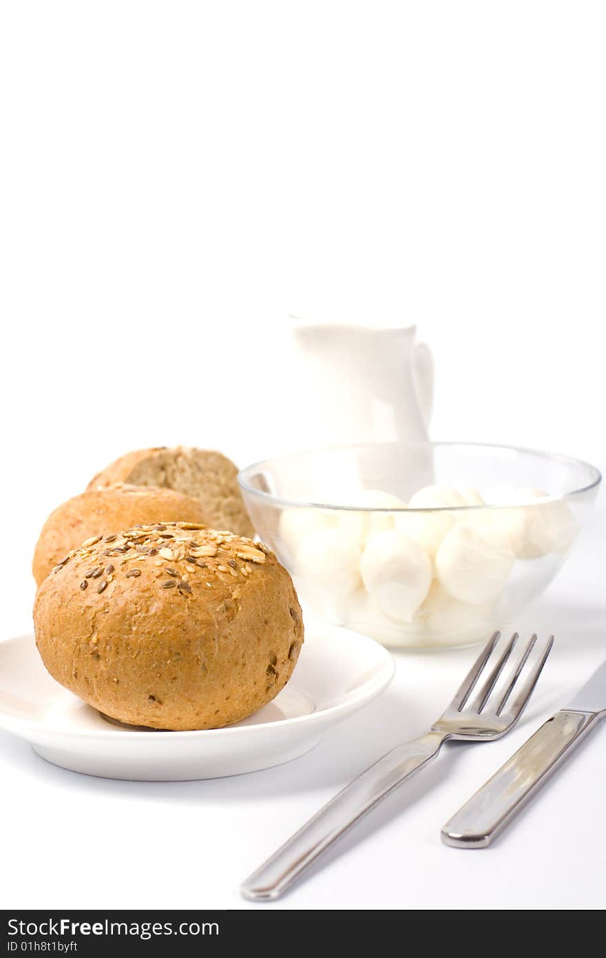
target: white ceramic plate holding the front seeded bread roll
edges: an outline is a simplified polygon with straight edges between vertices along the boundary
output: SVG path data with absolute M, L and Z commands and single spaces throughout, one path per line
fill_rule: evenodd
M 257 771 L 304 755 L 325 729 L 378 696 L 390 653 L 345 628 L 310 623 L 288 685 L 228 728 L 134 729 L 101 716 L 46 672 L 33 635 L 0 643 L 0 728 L 63 768 L 104 778 L 188 781 Z

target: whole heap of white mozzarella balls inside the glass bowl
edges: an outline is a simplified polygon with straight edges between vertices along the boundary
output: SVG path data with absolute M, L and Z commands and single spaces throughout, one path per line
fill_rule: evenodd
M 545 495 L 428 486 L 407 508 L 392 493 L 358 490 L 348 510 L 285 509 L 280 532 L 303 599 L 331 622 L 388 646 L 461 645 L 496 627 L 521 560 L 572 544 L 569 506 L 541 503 Z

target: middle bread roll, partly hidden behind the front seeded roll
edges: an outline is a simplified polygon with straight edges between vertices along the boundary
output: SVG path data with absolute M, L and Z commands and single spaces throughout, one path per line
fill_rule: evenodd
M 70 549 L 91 536 L 110 535 L 138 523 L 178 519 L 204 523 L 206 516 L 197 499 L 168 489 L 119 483 L 82 492 L 59 506 L 44 523 L 34 551 L 35 582 L 39 585 Z

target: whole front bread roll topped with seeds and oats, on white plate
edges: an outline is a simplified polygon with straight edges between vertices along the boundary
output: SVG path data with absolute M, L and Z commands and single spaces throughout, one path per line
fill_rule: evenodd
M 187 522 L 146 525 L 71 552 L 34 605 L 57 682 L 112 719 L 219 728 L 290 678 L 303 644 L 292 580 L 251 539 Z

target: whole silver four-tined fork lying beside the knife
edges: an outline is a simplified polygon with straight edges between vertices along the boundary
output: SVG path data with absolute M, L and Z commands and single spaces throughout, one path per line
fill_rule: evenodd
M 494 741 L 513 728 L 550 654 L 553 636 L 550 635 L 547 642 L 539 644 L 530 659 L 537 642 L 537 636 L 531 635 L 526 645 L 519 649 L 509 672 L 504 673 L 499 693 L 493 696 L 505 664 L 516 646 L 518 633 L 515 632 L 507 642 L 500 639 L 501 633 L 495 632 L 467 673 L 452 702 L 430 731 L 418 739 L 396 745 L 335 795 L 324 809 L 310 818 L 299 832 L 246 879 L 241 886 L 245 898 L 252 901 L 280 898 L 333 841 L 395 786 L 435 759 L 442 742 L 448 739 Z M 483 674 L 486 677 L 473 701 L 470 701 Z M 522 684 L 519 682 L 521 676 L 524 676 Z M 514 688 L 516 695 L 512 696 Z

